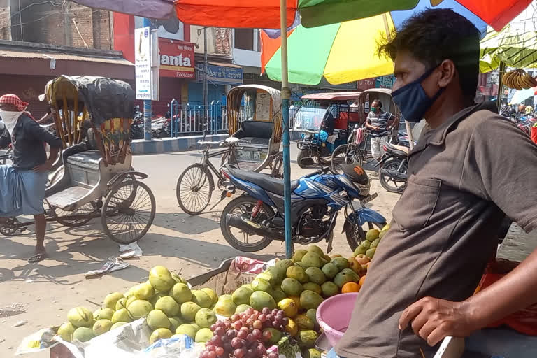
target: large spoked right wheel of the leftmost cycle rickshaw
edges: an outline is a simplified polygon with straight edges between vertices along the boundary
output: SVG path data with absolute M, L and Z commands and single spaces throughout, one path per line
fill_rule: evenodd
M 106 235 L 116 243 L 128 244 L 140 240 L 155 219 L 155 196 L 138 180 L 114 185 L 101 211 L 101 224 Z

